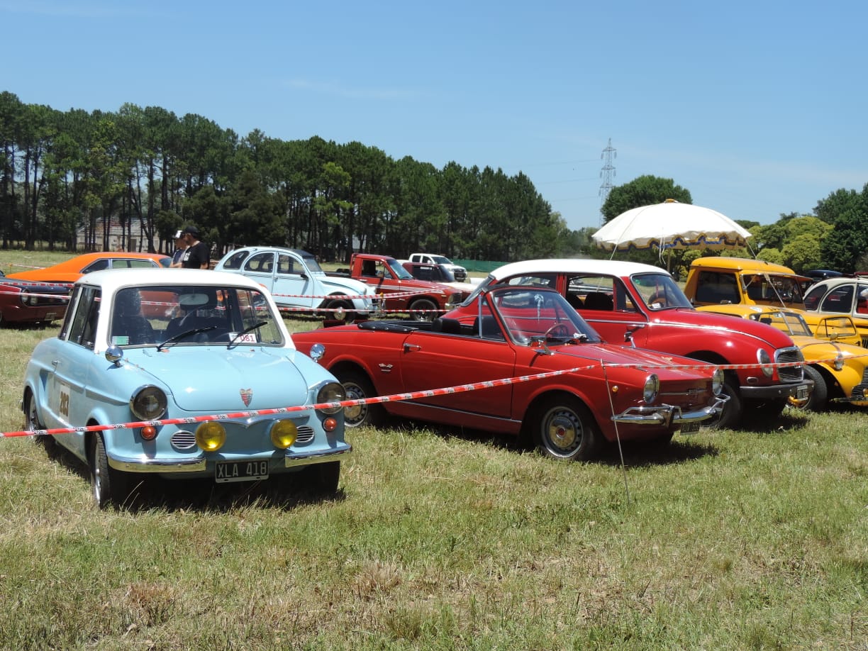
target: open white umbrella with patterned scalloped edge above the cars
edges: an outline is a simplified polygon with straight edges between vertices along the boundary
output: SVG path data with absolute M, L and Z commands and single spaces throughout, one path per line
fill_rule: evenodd
M 619 214 L 591 235 L 607 251 L 745 247 L 751 233 L 711 208 L 667 199 Z

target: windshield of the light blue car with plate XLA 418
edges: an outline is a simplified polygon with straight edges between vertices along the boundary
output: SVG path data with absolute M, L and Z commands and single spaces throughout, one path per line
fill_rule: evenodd
M 109 319 L 109 343 L 119 346 L 283 345 L 279 314 L 248 287 L 124 287 Z

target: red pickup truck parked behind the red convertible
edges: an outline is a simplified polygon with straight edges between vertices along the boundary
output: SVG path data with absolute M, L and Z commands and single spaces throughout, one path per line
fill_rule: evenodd
M 382 294 L 383 310 L 408 312 L 418 321 L 431 321 L 461 302 L 461 293 L 450 286 L 418 280 L 389 255 L 353 253 L 349 269 L 332 272 L 361 280 Z

